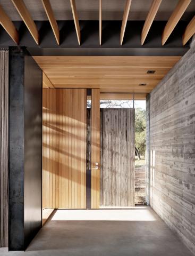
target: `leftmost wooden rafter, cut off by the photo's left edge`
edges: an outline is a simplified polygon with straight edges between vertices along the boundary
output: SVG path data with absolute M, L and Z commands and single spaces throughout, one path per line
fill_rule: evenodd
M 7 16 L 7 14 L 4 12 L 2 6 L 0 5 L 0 24 L 5 29 L 7 34 L 10 35 L 10 37 L 13 39 L 13 41 L 16 44 L 19 44 L 19 34 L 17 29 L 15 28 L 13 22 L 10 20 L 10 18 Z

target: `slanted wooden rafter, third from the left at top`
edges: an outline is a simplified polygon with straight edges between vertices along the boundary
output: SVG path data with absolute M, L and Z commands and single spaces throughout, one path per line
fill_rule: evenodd
M 54 36 L 56 38 L 57 44 L 60 45 L 60 32 L 59 32 L 59 28 L 57 26 L 57 22 L 56 22 L 55 17 L 54 17 L 54 12 L 52 10 L 52 6 L 51 6 L 49 0 L 41 0 L 41 2 L 43 3 L 45 12 L 47 14 L 47 18 L 48 18 L 48 20 L 50 22 L 50 25 L 52 27 L 52 30 L 53 30 Z

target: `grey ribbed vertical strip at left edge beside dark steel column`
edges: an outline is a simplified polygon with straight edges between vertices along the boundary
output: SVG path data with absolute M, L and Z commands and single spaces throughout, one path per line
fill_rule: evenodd
M 0 49 L 0 247 L 8 246 L 8 55 Z

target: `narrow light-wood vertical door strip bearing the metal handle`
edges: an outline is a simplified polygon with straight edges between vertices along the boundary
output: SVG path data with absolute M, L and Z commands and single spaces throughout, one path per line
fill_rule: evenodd
M 98 209 L 100 202 L 100 90 L 91 93 L 91 208 Z

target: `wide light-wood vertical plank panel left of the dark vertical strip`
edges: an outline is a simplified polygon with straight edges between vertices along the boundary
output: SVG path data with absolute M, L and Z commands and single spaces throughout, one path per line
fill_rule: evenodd
M 43 89 L 43 207 L 86 208 L 86 89 Z

